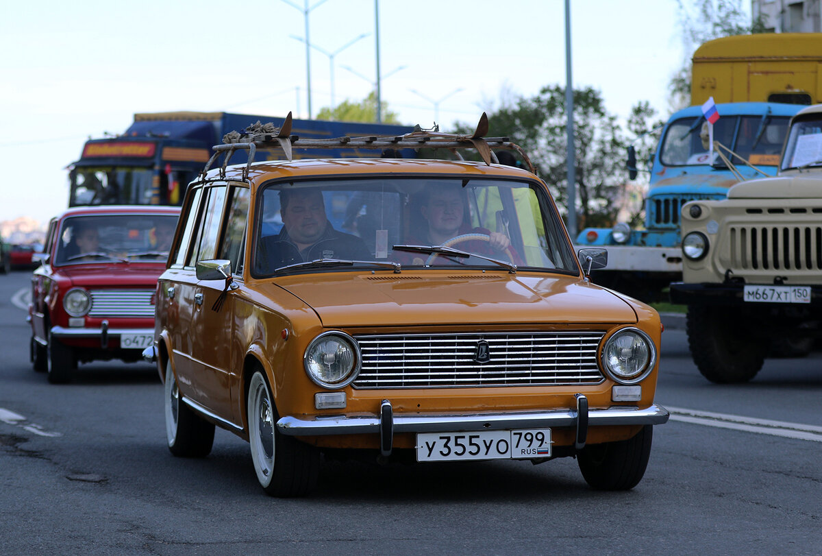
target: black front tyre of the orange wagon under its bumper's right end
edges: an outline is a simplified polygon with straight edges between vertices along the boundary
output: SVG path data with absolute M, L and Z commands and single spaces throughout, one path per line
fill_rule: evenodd
M 597 490 L 633 489 L 648 466 L 653 426 L 646 424 L 633 438 L 589 444 L 577 456 L 585 481 Z

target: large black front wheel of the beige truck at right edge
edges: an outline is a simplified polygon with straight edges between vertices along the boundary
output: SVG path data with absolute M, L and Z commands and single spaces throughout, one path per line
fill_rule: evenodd
M 686 331 L 696 367 L 718 384 L 754 378 L 769 348 L 767 341 L 750 333 L 744 317 L 727 308 L 689 305 Z

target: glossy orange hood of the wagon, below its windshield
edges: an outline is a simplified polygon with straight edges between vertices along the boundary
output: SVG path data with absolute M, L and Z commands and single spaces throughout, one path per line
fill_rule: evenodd
M 576 276 L 315 274 L 277 284 L 311 306 L 325 327 L 637 320 L 625 300 Z

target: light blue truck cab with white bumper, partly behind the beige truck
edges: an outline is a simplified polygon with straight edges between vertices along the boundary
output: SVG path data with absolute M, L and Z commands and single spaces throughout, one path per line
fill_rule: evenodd
M 797 104 L 764 102 L 717 104 L 720 118 L 713 125 L 713 140 L 738 155 L 729 158 L 743 180 L 773 176 L 788 123 L 801 108 Z M 716 152 L 709 154 L 707 122 L 701 106 L 671 116 L 650 162 L 644 229 L 630 229 L 624 222 L 610 229 L 586 228 L 575 242 L 578 247 L 607 248 L 607 269 L 596 271 L 592 275 L 594 282 L 643 301 L 663 299 L 663 288 L 681 280 L 682 205 L 723 199 L 727 189 L 741 181 Z

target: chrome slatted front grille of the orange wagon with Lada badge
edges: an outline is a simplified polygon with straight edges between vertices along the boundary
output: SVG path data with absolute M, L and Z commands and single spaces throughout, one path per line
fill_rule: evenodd
M 598 384 L 603 332 L 354 336 L 357 388 Z

